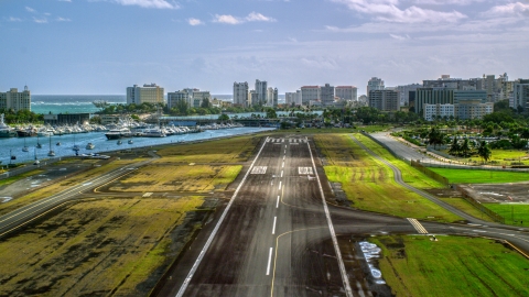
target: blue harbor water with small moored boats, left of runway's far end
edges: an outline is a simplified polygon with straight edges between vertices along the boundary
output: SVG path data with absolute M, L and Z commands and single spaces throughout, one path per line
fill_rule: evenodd
M 55 152 L 55 157 L 75 156 L 76 152 L 73 150 L 74 145 L 79 146 L 78 154 L 91 154 L 91 153 L 105 153 L 112 151 L 121 151 L 134 147 L 145 147 L 160 144 L 174 143 L 177 145 L 182 142 L 210 140 L 217 138 L 227 138 L 241 134 L 250 134 L 261 131 L 273 130 L 270 128 L 231 128 L 219 130 L 205 130 L 201 133 L 188 133 L 180 135 L 170 135 L 165 138 L 123 138 L 121 144 L 118 144 L 118 140 L 107 140 L 105 132 L 89 132 L 89 133 L 76 133 L 76 134 L 63 134 L 53 135 L 51 138 L 8 138 L 0 139 L 0 166 L 6 166 L 10 163 L 29 163 L 35 160 L 50 158 L 47 153 L 50 150 Z M 129 144 L 128 141 L 132 140 L 133 143 Z M 41 143 L 42 148 L 36 148 L 36 144 Z M 61 143 L 61 145 L 57 145 Z M 86 145 L 93 143 L 94 150 L 87 150 Z M 28 146 L 29 152 L 23 152 L 22 148 Z M 214 150 L 214 147 L 212 147 Z M 11 156 L 15 156 L 17 160 L 11 160 Z

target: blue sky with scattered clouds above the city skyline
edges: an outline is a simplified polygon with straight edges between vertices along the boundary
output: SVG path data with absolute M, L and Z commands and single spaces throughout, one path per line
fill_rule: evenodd
M 529 78 L 529 0 L 0 0 L 0 91 Z

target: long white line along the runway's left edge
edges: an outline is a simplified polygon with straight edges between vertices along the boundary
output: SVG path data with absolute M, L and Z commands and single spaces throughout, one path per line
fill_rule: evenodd
M 259 156 L 261 155 L 262 148 L 264 148 L 264 145 L 267 144 L 268 140 L 269 140 L 269 138 L 267 138 L 267 141 L 264 141 L 264 142 L 262 143 L 262 146 L 261 146 L 261 148 L 259 150 L 259 153 L 257 153 L 256 158 L 253 158 L 253 162 L 251 162 L 250 168 L 248 168 L 248 170 L 246 172 L 245 177 L 244 177 L 242 180 L 240 182 L 239 186 L 237 186 L 237 189 L 235 189 L 235 193 L 234 193 L 234 195 L 231 196 L 231 199 L 229 199 L 228 206 L 224 209 L 224 212 L 223 212 L 223 215 L 220 216 L 220 218 L 218 219 L 217 224 L 216 224 L 215 228 L 213 229 L 212 234 L 209 234 L 209 238 L 207 239 L 206 244 L 204 244 L 204 249 L 202 249 L 201 253 L 198 254 L 198 257 L 196 258 L 195 263 L 193 264 L 193 267 L 191 267 L 191 271 L 190 271 L 190 273 L 187 274 L 187 276 L 185 277 L 184 283 L 182 283 L 182 286 L 180 287 L 179 293 L 175 295 L 176 297 L 182 297 L 182 296 L 184 296 L 184 293 L 185 293 L 185 290 L 187 289 L 187 286 L 190 285 L 191 278 L 193 278 L 193 275 L 195 274 L 196 270 L 198 268 L 198 265 L 201 265 L 202 258 L 204 257 L 204 255 L 206 254 L 207 250 L 209 249 L 209 245 L 212 245 L 212 242 L 213 242 L 213 240 L 215 239 L 215 235 L 217 234 L 217 231 L 218 231 L 218 229 L 220 228 L 220 224 L 223 223 L 224 218 L 226 218 L 226 215 L 228 213 L 229 209 L 231 208 L 231 205 L 234 204 L 235 197 L 237 197 L 237 194 L 239 193 L 240 188 L 241 188 L 242 185 L 245 184 L 246 178 L 248 177 L 248 175 L 249 175 L 250 172 L 251 172 L 251 168 L 253 168 L 253 164 L 256 164 L 256 161 L 257 161 L 257 160 L 259 158 Z

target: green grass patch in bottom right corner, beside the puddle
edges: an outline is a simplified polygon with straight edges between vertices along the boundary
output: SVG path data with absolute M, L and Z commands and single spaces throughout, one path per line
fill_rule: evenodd
M 381 237 L 380 271 L 396 296 L 529 296 L 529 261 L 488 239 Z

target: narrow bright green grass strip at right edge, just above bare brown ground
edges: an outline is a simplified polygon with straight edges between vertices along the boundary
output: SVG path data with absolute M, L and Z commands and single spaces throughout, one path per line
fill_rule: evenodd
M 451 184 L 505 184 L 529 180 L 529 173 L 482 169 L 430 168 Z

